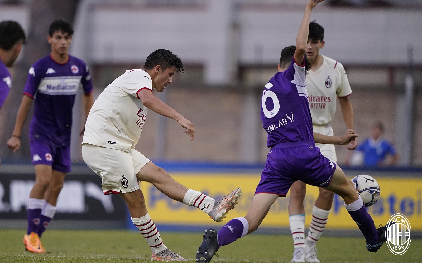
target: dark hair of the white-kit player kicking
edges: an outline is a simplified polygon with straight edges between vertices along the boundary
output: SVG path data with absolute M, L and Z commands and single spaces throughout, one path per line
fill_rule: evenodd
M 153 69 L 154 66 L 157 65 L 160 65 L 163 70 L 174 66 L 176 67 L 177 72 L 184 72 L 181 59 L 167 49 L 157 49 L 153 51 L 148 58 L 146 58 L 145 65 L 143 67 L 146 69 Z

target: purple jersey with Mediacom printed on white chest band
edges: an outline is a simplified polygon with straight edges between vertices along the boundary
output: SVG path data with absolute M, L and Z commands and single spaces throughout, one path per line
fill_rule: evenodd
M 30 140 L 57 146 L 70 143 L 72 108 L 79 87 L 85 94 L 92 92 L 88 67 L 79 58 L 69 56 L 65 64 L 59 64 L 49 55 L 31 66 L 24 88 L 24 94 L 35 99 Z

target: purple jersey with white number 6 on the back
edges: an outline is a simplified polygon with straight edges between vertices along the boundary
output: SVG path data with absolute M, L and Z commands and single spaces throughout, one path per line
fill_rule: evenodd
M 277 72 L 265 85 L 261 120 L 268 133 L 268 147 L 284 142 L 314 141 L 305 80 L 305 66 L 296 64 L 292 58 L 289 67 Z

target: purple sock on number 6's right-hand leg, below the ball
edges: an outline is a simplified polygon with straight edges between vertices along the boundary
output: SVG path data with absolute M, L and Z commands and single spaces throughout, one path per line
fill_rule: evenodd
M 376 244 L 378 242 L 379 235 L 376 231 L 375 225 L 373 224 L 371 215 L 369 215 L 366 207 L 363 205 L 362 199 L 359 197 L 359 199 L 352 204 L 345 206 L 354 222 L 357 223 L 360 231 L 362 231 L 363 236 L 365 236 L 366 243 L 371 245 Z

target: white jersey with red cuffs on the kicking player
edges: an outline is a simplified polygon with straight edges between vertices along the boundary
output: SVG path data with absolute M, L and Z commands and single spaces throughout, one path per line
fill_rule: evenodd
M 98 96 L 85 125 L 82 144 L 129 152 L 139 141 L 147 108 L 138 92 L 152 92 L 151 76 L 142 69 L 127 70 Z

